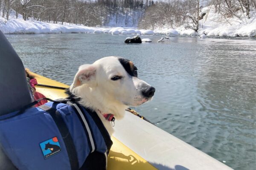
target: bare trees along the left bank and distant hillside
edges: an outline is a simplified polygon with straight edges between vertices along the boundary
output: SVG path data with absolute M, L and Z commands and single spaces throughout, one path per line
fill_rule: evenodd
M 16 18 L 22 14 L 24 20 L 104 26 L 116 17 L 116 23 L 129 19 L 135 26 L 145 8 L 152 4 L 153 0 L 0 0 L 0 9 L 6 20 L 13 9 Z

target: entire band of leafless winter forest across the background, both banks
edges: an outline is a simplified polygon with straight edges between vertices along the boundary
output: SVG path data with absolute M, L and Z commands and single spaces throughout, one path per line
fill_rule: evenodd
M 185 26 L 198 30 L 205 6 L 228 18 L 241 18 L 256 11 L 256 0 L 0 0 L 2 17 L 9 20 L 12 9 L 24 20 L 84 26 L 130 26 L 144 29 Z

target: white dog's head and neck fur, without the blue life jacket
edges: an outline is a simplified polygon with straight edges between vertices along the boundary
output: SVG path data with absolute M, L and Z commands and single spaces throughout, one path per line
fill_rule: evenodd
M 117 120 L 129 106 L 139 106 L 154 96 L 155 88 L 138 78 L 137 67 L 122 57 L 104 57 L 79 67 L 69 95 L 78 96 L 79 104 L 96 111 L 109 135 L 113 127 L 105 115 Z

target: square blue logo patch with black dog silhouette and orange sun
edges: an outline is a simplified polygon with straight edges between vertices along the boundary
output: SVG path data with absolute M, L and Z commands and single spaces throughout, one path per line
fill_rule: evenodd
M 59 144 L 57 137 L 53 137 L 52 139 L 41 142 L 40 147 L 44 154 L 44 159 L 47 159 L 61 152 L 61 145 Z

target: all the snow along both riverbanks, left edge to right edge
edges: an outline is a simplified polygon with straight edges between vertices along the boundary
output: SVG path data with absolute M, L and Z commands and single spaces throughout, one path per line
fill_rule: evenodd
M 240 19 L 224 18 L 221 14 L 214 12 L 213 7 L 205 7 L 202 9 L 201 14 L 205 14 L 204 18 L 199 22 L 198 32 L 192 29 L 186 29 L 184 26 L 175 28 L 180 35 L 198 35 L 206 34 L 207 36 L 229 36 L 229 37 L 256 37 L 256 11 L 250 12 L 250 19 L 240 14 Z M 170 29 L 158 28 L 154 31 L 151 30 L 138 30 L 136 28 L 99 28 L 87 27 L 64 23 L 54 24 L 45 23 L 29 19 L 24 21 L 22 16 L 19 15 L 15 18 L 14 12 L 10 15 L 8 21 L 0 17 L 0 30 L 4 34 L 47 34 L 47 33 L 110 33 L 113 35 L 118 34 L 166 34 Z

